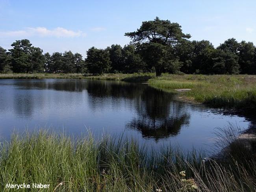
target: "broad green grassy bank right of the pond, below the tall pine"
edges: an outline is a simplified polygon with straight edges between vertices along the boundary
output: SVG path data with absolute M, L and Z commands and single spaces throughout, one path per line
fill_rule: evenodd
M 149 84 L 162 89 L 191 88 L 179 96 L 213 107 L 256 108 L 255 82 L 252 75 L 164 75 L 150 79 Z

